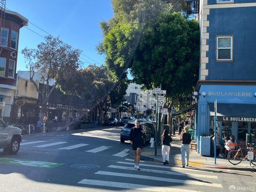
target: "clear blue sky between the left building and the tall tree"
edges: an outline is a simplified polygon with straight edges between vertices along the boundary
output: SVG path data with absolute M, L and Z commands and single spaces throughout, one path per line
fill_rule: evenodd
M 81 49 L 81 61 L 97 65 L 104 62 L 104 56 L 99 55 L 95 47 L 102 41 L 99 22 L 113 17 L 111 0 L 6 0 L 6 9 L 18 12 L 47 33 Z M 44 42 L 42 36 L 48 35 L 31 23 L 20 29 L 17 70 L 27 70 L 21 50 L 36 48 Z

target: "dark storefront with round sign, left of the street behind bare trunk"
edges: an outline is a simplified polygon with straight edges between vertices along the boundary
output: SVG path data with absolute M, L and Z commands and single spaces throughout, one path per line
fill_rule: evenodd
M 39 105 L 35 98 L 14 97 L 12 123 L 36 124 L 39 118 Z

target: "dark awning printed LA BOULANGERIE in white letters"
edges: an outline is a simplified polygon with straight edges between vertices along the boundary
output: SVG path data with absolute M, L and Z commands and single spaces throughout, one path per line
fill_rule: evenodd
M 210 116 L 214 116 L 214 103 L 209 103 Z M 256 105 L 218 103 L 218 121 L 256 122 Z

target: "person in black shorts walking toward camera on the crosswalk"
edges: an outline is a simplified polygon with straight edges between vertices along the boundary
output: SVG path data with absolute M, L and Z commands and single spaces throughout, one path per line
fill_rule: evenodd
M 135 126 L 130 132 L 131 145 L 133 149 L 134 169 L 140 170 L 140 153 L 142 148 L 142 136 L 145 131 L 140 127 L 140 122 L 135 120 Z

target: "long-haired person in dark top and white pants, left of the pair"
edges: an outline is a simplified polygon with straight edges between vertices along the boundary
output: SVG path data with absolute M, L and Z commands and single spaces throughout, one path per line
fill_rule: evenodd
M 161 140 L 162 140 L 162 156 L 163 156 L 163 163 L 164 165 L 169 164 L 169 154 L 170 154 L 170 148 L 171 148 L 171 143 L 172 138 L 168 134 L 168 131 L 164 129 L 163 134 L 161 135 Z

